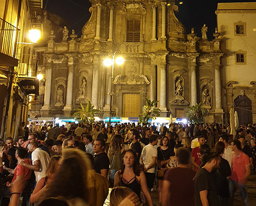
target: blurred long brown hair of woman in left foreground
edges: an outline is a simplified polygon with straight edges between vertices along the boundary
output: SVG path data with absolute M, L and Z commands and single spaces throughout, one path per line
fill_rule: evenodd
M 64 197 L 72 206 L 87 205 L 91 191 L 88 191 L 87 171 L 90 162 L 80 149 L 64 149 L 58 173 L 47 186 L 41 200 L 48 197 Z

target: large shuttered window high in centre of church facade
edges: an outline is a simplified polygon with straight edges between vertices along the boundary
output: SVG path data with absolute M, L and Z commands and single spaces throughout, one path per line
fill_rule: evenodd
M 139 42 L 140 41 L 140 20 L 127 20 L 126 41 Z

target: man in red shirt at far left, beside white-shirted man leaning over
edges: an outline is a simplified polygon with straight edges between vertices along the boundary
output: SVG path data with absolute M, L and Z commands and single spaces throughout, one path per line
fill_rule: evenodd
M 19 147 L 16 150 L 15 157 L 18 160 L 18 164 L 15 167 L 15 169 L 6 168 L 9 171 L 9 173 L 13 174 L 12 181 L 11 181 L 11 183 L 10 182 L 6 183 L 7 187 L 1 188 L 0 197 L 1 196 L 11 196 L 11 191 L 10 191 L 9 187 L 11 187 L 11 185 L 14 181 L 20 180 L 22 178 L 22 180 L 25 183 L 27 180 L 29 180 L 31 178 L 31 173 L 32 173 L 31 169 L 28 169 L 25 166 L 22 166 L 20 164 L 21 161 L 24 161 L 27 164 L 32 164 L 31 160 L 26 158 L 27 157 L 27 150 L 23 147 Z M 25 185 L 26 184 L 24 184 L 24 186 Z

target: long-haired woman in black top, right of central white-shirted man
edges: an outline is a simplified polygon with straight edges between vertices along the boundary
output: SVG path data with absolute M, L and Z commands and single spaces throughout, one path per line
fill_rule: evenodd
M 157 148 L 157 160 L 158 160 L 157 181 L 158 181 L 159 202 L 161 202 L 163 174 L 168 169 L 167 164 L 170 162 L 170 157 L 173 155 L 173 152 L 168 145 L 169 145 L 168 137 L 163 136 L 161 138 L 160 147 Z

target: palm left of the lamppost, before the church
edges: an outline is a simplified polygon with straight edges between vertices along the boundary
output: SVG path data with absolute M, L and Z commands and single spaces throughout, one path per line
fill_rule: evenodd
M 94 109 L 94 105 L 91 104 L 91 101 L 87 101 L 86 108 L 80 103 L 81 108 L 74 109 L 73 117 L 75 119 L 81 118 L 81 122 L 85 123 L 93 123 L 95 121 L 94 115 L 99 111 L 98 109 Z

